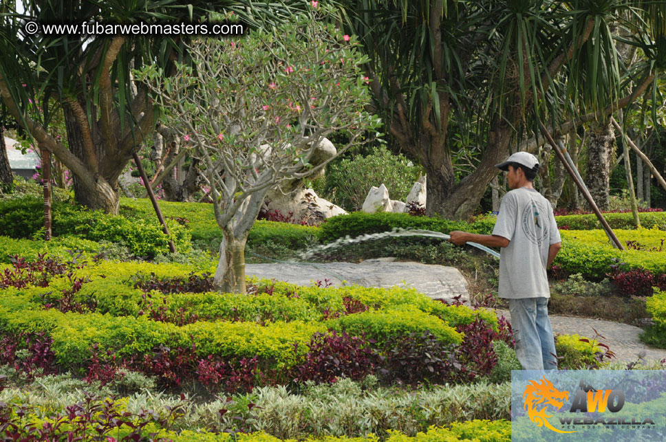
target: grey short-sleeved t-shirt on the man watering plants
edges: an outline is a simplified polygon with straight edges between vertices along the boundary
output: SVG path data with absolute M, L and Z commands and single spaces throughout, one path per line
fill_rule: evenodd
M 535 189 L 511 190 L 502 198 L 493 235 L 511 241 L 500 251 L 500 298 L 550 298 L 548 248 L 561 241 L 550 201 Z

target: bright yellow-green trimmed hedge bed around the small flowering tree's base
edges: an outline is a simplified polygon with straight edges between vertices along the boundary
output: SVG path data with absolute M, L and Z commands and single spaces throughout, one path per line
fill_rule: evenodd
M 211 264 L 212 266 L 212 264 Z M 186 265 L 144 262 L 114 263 L 100 261 L 73 271 L 72 278 L 84 278 L 74 300 L 93 305 L 92 313 L 62 313 L 44 309 L 71 289 L 69 276 L 54 276 L 48 287 L 9 287 L 0 290 L 0 333 L 44 332 L 54 342 L 52 349 L 59 364 L 84 366 L 89 349 L 98 344 L 120 357 L 142 356 L 163 344 L 171 348 L 191 348 L 199 355 L 226 358 L 259 355 L 263 364 L 275 369 L 297 364 L 308 351 L 312 335 L 327 329 L 344 329 L 352 335 L 365 333 L 383 342 L 412 331 L 429 329 L 444 342 L 460 342 L 455 331 L 480 316 L 497 327 L 491 311 L 451 307 L 418 294 L 414 289 L 393 287 L 299 287 L 268 280 L 250 282 L 274 286 L 270 294 L 256 296 L 233 294 L 164 295 L 151 291 L 153 305 L 166 307 L 174 315 L 180 309 L 187 314 L 211 316 L 210 321 L 179 327 L 171 322 L 147 318 L 148 299 L 133 288 L 141 274 L 155 278 L 187 276 Z M 328 320 L 330 313 L 343 312 L 344 302 L 358 300 L 372 310 Z M 221 315 L 222 318 L 216 318 Z M 235 322 L 228 322 L 230 320 Z M 297 350 L 294 350 L 297 343 Z

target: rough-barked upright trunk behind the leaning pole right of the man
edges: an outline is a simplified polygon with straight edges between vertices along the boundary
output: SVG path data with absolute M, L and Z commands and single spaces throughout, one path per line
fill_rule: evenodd
M 586 184 L 599 210 L 610 207 L 610 162 L 615 133 L 610 122 L 590 126 Z

